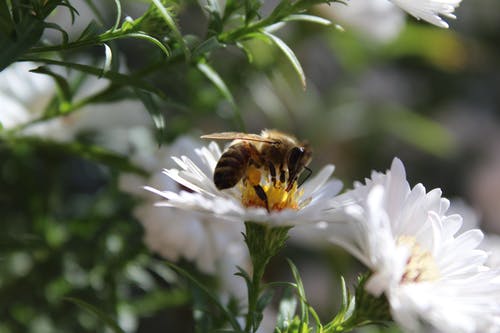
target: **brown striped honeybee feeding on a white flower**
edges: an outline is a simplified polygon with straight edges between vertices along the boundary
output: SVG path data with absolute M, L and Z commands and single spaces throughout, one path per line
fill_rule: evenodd
M 277 130 L 263 130 L 260 135 L 221 132 L 201 138 L 233 140 L 215 166 L 215 186 L 223 190 L 234 187 L 243 179 L 254 186 L 256 194 L 266 204 L 266 193 L 259 184 L 260 172 L 255 170 L 267 170 L 271 182 L 284 184 L 286 191 L 293 187 L 303 170 L 309 170 L 307 165 L 312 155 L 309 144 Z

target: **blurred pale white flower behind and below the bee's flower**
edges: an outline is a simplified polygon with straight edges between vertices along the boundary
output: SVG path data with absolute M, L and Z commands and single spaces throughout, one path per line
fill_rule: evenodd
M 179 191 L 181 185 L 165 177 L 162 170 L 173 164 L 172 154 L 191 152 L 193 161 L 201 163 L 193 154 L 195 146 L 193 139 L 181 137 L 156 151 L 138 150 L 132 160 L 151 176 L 144 179 L 132 174 L 122 175 L 120 188 L 143 200 L 134 215 L 144 226 L 144 242 L 152 251 L 171 261 L 184 258 L 194 262 L 200 271 L 220 279 L 221 291 L 243 300 L 246 295 L 244 280 L 234 275 L 236 266 L 250 269 L 250 258 L 241 234 L 243 224 L 196 211 L 158 209 L 154 207 L 157 196 L 143 189 L 144 184 L 154 184 L 161 190 Z

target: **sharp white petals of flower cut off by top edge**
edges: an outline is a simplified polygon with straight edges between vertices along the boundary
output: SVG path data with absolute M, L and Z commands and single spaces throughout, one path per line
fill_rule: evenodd
M 462 0 L 391 0 L 396 6 L 413 15 L 441 28 L 448 28 L 440 16 L 456 18 L 455 8 Z

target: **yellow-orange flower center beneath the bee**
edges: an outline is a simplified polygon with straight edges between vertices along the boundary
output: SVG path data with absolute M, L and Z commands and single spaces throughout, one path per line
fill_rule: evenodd
M 247 170 L 246 179 L 239 186 L 241 202 L 245 207 L 263 207 L 268 211 L 281 211 L 287 208 L 298 210 L 300 208 L 298 200 L 303 191 L 298 189 L 296 181 L 287 191 L 288 182 L 281 182 L 279 179 L 273 180 L 268 172 L 250 167 Z M 256 189 L 256 187 L 260 187 L 262 190 Z

